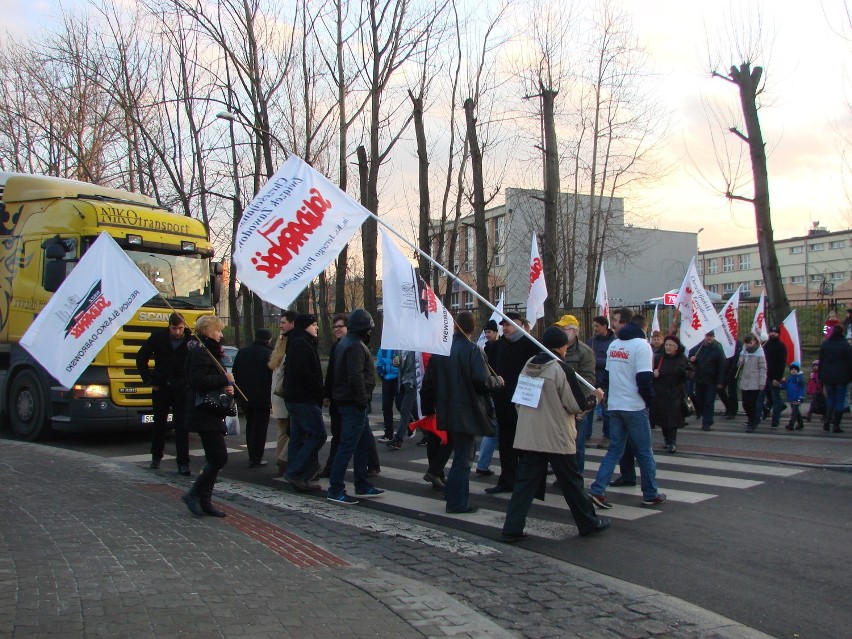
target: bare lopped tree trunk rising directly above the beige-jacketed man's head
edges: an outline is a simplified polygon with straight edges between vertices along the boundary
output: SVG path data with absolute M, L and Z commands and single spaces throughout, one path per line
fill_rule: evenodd
M 558 91 L 541 85 L 541 117 L 544 125 L 544 233 L 542 233 L 542 258 L 547 299 L 544 300 L 544 325 L 556 321 L 556 219 L 559 211 L 559 149 L 556 141 L 556 122 L 553 103 Z

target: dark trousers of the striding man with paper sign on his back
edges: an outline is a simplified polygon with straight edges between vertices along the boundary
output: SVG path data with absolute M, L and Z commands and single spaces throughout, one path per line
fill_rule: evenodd
M 559 481 L 559 489 L 571 510 L 577 529 L 581 533 L 587 533 L 597 527 L 595 507 L 583 485 L 583 477 L 577 472 L 574 455 L 526 450 L 518 460 L 517 482 L 506 509 L 503 534 L 519 535 L 524 531 L 532 500 L 540 493 L 546 481 L 548 463 Z

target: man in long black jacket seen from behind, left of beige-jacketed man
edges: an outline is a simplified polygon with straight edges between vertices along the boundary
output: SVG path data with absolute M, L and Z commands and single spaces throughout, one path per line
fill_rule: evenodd
M 450 354 L 429 359 L 421 391 L 423 413 L 435 414 L 438 428 L 452 436 L 453 465 L 446 482 L 448 513 L 475 510 L 469 502 L 474 439 L 494 434 L 488 419 L 488 393 L 502 385 L 489 374 L 485 353 L 470 340 L 474 327 L 470 311 L 456 316 Z

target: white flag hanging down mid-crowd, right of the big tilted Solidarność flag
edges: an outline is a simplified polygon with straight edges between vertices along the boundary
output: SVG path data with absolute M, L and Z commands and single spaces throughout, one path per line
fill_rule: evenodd
M 453 318 L 384 229 L 382 348 L 449 355 Z

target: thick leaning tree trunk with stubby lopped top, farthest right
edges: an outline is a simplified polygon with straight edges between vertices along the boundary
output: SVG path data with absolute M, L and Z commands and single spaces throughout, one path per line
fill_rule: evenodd
M 790 302 L 781 283 L 781 269 L 775 253 L 775 239 L 772 232 L 772 216 L 769 209 L 769 173 L 766 168 L 766 147 L 760 130 L 757 114 L 757 92 L 762 67 L 750 68 L 748 63 L 739 68 L 732 66 L 730 78 L 740 92 L 740 104 L 745 119 L 746 134 L 751 157 L 751 169 L 754 177 L 754 219 L 757 227 L 757 250 L 760 254 L 760 268 L 766 286 L 766 301 L 769 316 L 773 323 L 780 324 L 790 314 Z M 734 131 L 736 134 L 736 131 Z M 731 197 L 731 194 L 728 194 Z M 807 247 L 806 247 L 807 248 Z

